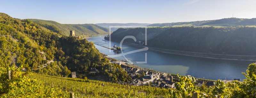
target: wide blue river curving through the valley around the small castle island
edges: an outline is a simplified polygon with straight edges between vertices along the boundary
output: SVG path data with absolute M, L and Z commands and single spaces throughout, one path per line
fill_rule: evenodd
M 104 40 L 105 35 L 93 36 L 88 41 L 92 41 L 94 44 L 101 46 L 107 46 L 109 41 Z M 111 42 L 113 47 L 116 44 L 119 47 L 120 43 Z M 115 55 L 109 49 L 95 45 L 95 47 L 106 55 Z M 140 49 L 138 47 L 130 45 L 122 45 L 123 52 L 129 52 L 132 50 Z M 147 53 L 147 64 L 137 64 L 136 61 L 143 62 L 145 61 L 145 53 Z M 111 56 L 110 56 L 111 57 Z M 125 57 L 133 62 L 134 65 L 144 67 L 147 69 L 153 69 L 158 72 L 168 72 L 172 74 L 179 75 L 191 75 L 196 78 L 204 79 L 245 79 L 245 76 L 242 72 L 246 73 L 246 69 L 249 64 L 255 63 L 255 61 L 242 61 L 242 60 L 224 60 L 224 59 L 212 59 L 204 57 L 192 57 L 184 55 L 176 55 L 169 53 L 162 53 L 158 51 L 141 51 L 137 53 L 132 53 L 125 55 Z M 124 57 L 115 57 L 115 59 L 123 60 Z M 125 60 L 125 59 L 124 59 Z

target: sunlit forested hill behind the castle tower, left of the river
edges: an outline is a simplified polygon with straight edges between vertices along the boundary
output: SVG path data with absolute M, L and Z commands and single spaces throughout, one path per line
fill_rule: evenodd
M 69 35 L 70 30 L 75 31 L 76 36 L 80 35 L 98 35 L 98 34 L 108 34 L 108 28 L 104 28 L 94 24 L 60 24 L 55 21 L 50 20 L 40 20 L 40 19 L 28 19 L 33 21 L 40 26 L 43 26 L 53 32 L 62 32 L 63 34 Z

